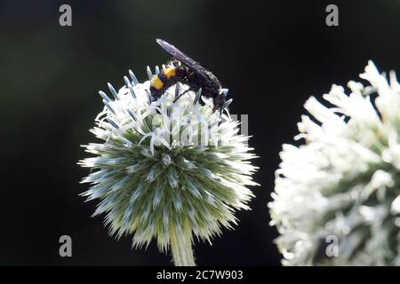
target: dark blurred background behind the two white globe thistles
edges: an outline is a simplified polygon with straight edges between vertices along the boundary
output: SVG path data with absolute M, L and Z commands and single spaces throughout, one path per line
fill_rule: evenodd
M 60 4 L 72 27 L 59 25 Z M 327 4 L 339 27 L 325 25 Z M 196 242 L 200 265 L 279 265 L 267 203 L 283 143 L 292 142 L 302 104 L 332 83 L 357 79 L 368 59 L 400 70 L 400 1 L 4 1 L 0 3 L 0 264 L 170 265 L 156 244 L 131 250 L 108 237 L 96 201 L 78 194 L 87 175 L 76 162 L 102 109 L 99 90 L 120 88 L 127 70 L 169 59 L 174 43 L 217 75 L 233 114 L 249 114 L 260 159 L 252 211 L 212 246 Z M 60 235 L 73 256 L 59 256 Z

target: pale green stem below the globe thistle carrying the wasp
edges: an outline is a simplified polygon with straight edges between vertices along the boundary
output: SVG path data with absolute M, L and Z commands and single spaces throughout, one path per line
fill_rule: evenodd
M 192 248 L 192 230 L 188 225 L 182 230 L 170 228 L 172 259 L 175 266 L 196 266 Z

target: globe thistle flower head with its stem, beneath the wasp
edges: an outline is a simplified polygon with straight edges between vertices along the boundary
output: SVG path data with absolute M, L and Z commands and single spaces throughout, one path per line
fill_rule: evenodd
M 113 99 L 100 91 L 105 107 L 91 131 L 102 142 L 84 146 L 95 156 L 80 162 L 93 170 L 83 195 L 100 200 L 93 216 L 107 213 L 110 234 L 132 234 L 135 248 L 155 238 L 160 250 L 171 246 L 175 264 L 194 264 L 193 236 L 211 241 L 236 225 L 236 209 L 249 209 L 248 137 L 227 109 L 212 112 L 201 90 L 176 83 L 153 101 L 149 81 L 132 73 L 124 81 L 119 91 L 109 85 Z

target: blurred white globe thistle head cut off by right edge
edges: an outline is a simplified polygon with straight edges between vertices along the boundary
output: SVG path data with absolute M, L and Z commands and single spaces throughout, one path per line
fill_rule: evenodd
M 400 85 L 371 61 L 360 77 L 332 86 L 332 107 L 308 99 L 306 143 L 283 146 L 268 204 L 283 264 L 400 264 Z

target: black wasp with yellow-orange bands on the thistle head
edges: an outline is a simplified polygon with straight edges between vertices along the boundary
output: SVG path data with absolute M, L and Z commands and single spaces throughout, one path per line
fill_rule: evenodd
M 205 98 L 212 98 L 212 112 L 220 109 L 220 112 L 226 108 L 232 99 L 226 100 L 228 89 L 223 89 L 218 78 L 210 71 L 198 64 L 178 50 L 175 46 L 165 42 L 162 39 L 156 39 L 164 51 L 172 55 L 172 60 L 165 67 L 150 79 L 150 92 L 153 100 L 159 99 L 165 90 L 175 83 L 185 83 L 189 86 L 188 91 L 198 91 Z M 176 99 L 179 99 L 187 91 L 184 91 Z M 175 100 L 176 100 L 175 99 Z M 204 102 L 200 99 L 200 104 L 204 106 Z

